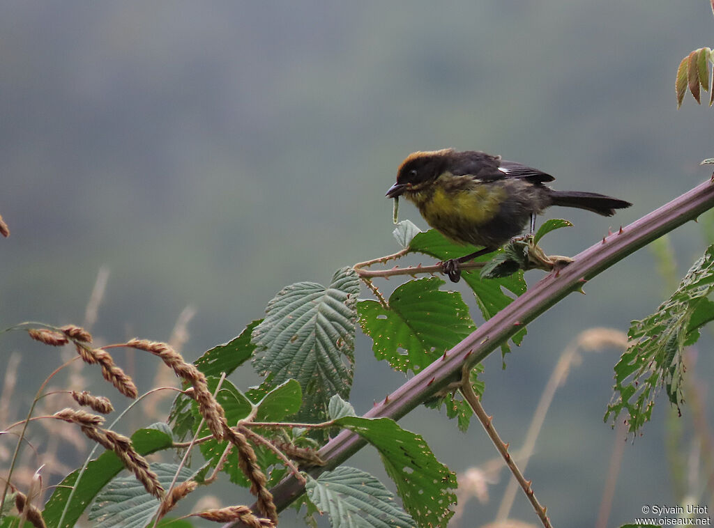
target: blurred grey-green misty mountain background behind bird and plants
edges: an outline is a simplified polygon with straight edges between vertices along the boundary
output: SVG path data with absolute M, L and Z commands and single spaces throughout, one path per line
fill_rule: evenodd
M 0 214 L 11 237 L 0 240 L 0 327 L 81 323 L 106 266 L 94 333 L 166 340 L 190 305 L 183 354 L 193 360 L 260 318 L 283 285 L 325 284 L 337 268 L 398 250 L 384 193 L 408 153 L 447 146 L 635 204 L 612 219 L 552 211 L 575 227 L 548 235 L 545 249 L 578 253 L 710 176 L 699 162 L 714 156 L 711 110 L 690 97 L 677 110 L 674 80 L 713 29 L 705 1 L 5 1 Z M 400 215 L 427 227 L 409 205 Z M 673 234 L 679 275 L 702 253 L 706 224 Z M 506 370 L 497 355 L 486 362 L 484 405 L 513 446 L 575 335 L 626 331 L 668 295 L 646 249 L 585 291 L 535 321 Z M 59 360 L 3 335 L 2 357 L 14 350 L 29 391 L 14 403 L 25 412 Z M 555 525 L 597 517 L 610 452 L 624 442 L 602 420 L 618 354 L 585 355 L 570 373 L 526 471 Z M 365 412 L 403 377 L 364 338 L 356 357 L 353 404 Z M 131 365 L 148 390 L 156 360 Z M 698 376 L 712 367 L 700 353 Z M 243 370 L 236 385 L 258 381 Z M 111 391 L 101 380 L 92 388 Z M 608 525 L 680 500 L 664 454 L 668 412 L 660 398 L 643 437 L 625 446 Z M 421 409 L 402 425 L 457 472 L 496 456 L 478 424 L 462 435 Z M 350 464 L 387 482 L 376 459 L 365 451 Z M 491 521 L 505 483 L 502 471 L 461 526 Z M 535 521 L 520 495 L 512 516 Z

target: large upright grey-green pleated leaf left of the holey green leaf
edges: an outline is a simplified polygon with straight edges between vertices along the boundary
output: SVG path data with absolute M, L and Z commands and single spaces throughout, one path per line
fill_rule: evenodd
M 358 293 L 352 268 L 338 270 L 328 288 L 290 285 L 268 303 L 266 318 L 253 329 L 253 364 L 268 375 L 266 382 L 300 383 L 304 405 L 298 418 L 324 417 L 333 394 L 349 397 Z

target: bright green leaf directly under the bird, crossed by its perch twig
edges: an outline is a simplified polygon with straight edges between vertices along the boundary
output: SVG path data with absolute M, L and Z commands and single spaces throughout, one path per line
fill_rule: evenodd
M 431 255 L 442 261 L 468 255 L 477 249 L 478 248 L 473 245 L 456 245 L 434 229 L 428 230 L 426 233 L 419 233 L 413 238 L 409 245 L 409 250 L 411 251 Z M 474 261 L 486 262 L 502 252 L 503 250 L 498 250 L 497 253 L 483 255 Z M 504 278 L 486 279 L 481 278 L 481 274 L 478 273 L 478 270 L 464 270 L 461 276 L 469 288 L 473 290 L 473 295 L 476 297 L 476 304 L 479 310 L 481 310 L 483 318 L 486 320 L 491 319 L 493 315 L 496 315 L 496 313 L 513 302 L 513 298 L 506 295 L 504 290 L 510 291 L 515 295 L 521 295 L 526 292 L 526 280 L 523 279 L 522 271 L 518 271 Z M 523 330 L 520 330 L 513 336 L 512 340 L 516 345 L 519 345 L 525 335 L 526 328 L 524 327 Z M 501 350 L 504 354 L 509 352 L 510 348 L 508 347 L 508 343 L 504 343 L 501 346 Z

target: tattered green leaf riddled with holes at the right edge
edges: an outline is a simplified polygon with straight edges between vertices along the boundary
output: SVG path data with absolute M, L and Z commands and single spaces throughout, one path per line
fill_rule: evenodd
M 630 432 L 650 420 L 654 397 L 660 387 L 674 405 L 683 401 L 682 349 L 698 338 L 698 329 L 714 320 L 714 303 L 707 296 L 714 289 L 714 245 L 711 245 L 683 278 L 679 287 L 657 312 L 633 321 L 628 332 L 630 347 L 615 365 L 615 397 L 605 421 L 628 414 Z

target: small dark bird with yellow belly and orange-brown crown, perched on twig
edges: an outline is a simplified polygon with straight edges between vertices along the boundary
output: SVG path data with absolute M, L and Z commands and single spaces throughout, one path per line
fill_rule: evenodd
M 419 209 L 431 227 L 461 244 L 483 245 L 482 250 L 442 264 L 458 282 L 458 265 L 497 250 L 550 205 L 587 209 L 612 216 L 630 207 L 625 200 L 597 193 L 555 191 L 544 183 L 550 174 L 484 152 L 414 152 L 402 162 L 388 198 L 403 196 Z

